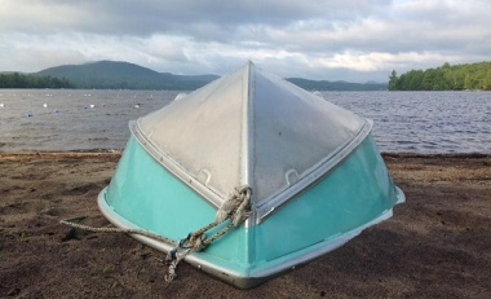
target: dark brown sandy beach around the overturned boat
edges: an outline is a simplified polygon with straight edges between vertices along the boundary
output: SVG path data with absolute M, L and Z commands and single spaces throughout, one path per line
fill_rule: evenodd
M 0 297 L 491 298 L 491 156 L 385 155 L 407 203 L 345 246 L 243 291 L 122 234 L 77 232 L 118 154 L 0 154 Z

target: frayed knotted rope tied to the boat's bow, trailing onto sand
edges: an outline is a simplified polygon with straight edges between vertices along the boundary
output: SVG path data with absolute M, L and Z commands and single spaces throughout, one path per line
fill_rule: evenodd
M 190 232 L 188 236 L 182 239 L 180 242 L 175 242 L 169 238 L 160 236 L 158 234 L 151 233 L 142 229 L 131 229 L 131 228 L 118 228 L 118 227 L 94 227 L 76 223 L 74 221 L 83 220 L 86 217 L 76 217 L 66 220 L 61 220 L 61 224 L 68 225 L 72 228 L 92 231 L 92 232 L 116 232 L 116 233 L 129 233 L 129 234 L 139 234 L 147 238 L 161 241 L 164 243 L 171 244 L 174 247 L 169 252 L 167 263 L 168 272 L 164 275 L 164 279 L 167 282 L 171 282 L 177 277 L 176 268 L 177 265 L 184 260 L 186 255 L 191 252 L 196 252 L 205 249 L 208 245 L 224 236 L 229 230 L 241 225 L 245 220 L 251 215 L 250 210 L 250 199 L 251 199 L 252 189 L 251 187 L 245 185 L 242 187 L 236 187 L 234 193 L 229 196 L 229 198 L 221 205 L 221 207 L 216 212 L 215 221 L 204 226 L 194 232 Z M 220 229 L 219 231 L 212 234 L 212 236 L 207 237 L 206 232 L 218 225 L 230 220 L 230 223 Z

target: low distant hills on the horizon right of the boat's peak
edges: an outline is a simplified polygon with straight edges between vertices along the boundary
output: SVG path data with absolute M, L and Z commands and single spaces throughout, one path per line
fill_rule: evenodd
M 352 83 L 346 81 L 315 81 L 303 78 L 286 78 L 306 90 L 317 91 L 374 91 L 387 90 L 387 84 L 384 83 Z

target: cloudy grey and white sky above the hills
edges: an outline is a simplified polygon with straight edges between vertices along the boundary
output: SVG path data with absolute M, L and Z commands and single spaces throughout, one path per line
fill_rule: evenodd
M 387 81 L 491 60 L 489 0 L 0 0 L 0 71 L 101 59 L 224 74 Z

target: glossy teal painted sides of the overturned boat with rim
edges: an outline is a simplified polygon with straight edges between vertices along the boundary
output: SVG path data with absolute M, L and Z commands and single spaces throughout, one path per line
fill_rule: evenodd
M 259 224 L 241 226 L 187 258 L 238 287 L 252 287 L 337 248 L 392 215 L 404 194 L 392 182 L 371 136 L 318 182 Z M 214 221 L 216 208 L 169 173 L 131 137 L 110 185 L 104 215 L 176 242 Z M 169 244 L 141 241 L 167 251 Z

